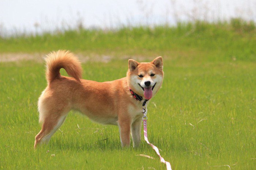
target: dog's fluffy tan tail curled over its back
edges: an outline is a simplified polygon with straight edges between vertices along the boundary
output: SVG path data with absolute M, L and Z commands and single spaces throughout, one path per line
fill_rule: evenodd
M 78 58 L 69 51 L 59 50 L 50 52 L 46 58 L 46 80 L 49 84 L 56 78 L 60 78 L 60 69 L 64 68 L 68 75 L 80 82 L 82 67 Z

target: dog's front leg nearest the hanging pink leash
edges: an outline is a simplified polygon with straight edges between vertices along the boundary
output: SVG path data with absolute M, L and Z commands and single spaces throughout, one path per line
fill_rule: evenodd
M 133 147 L 138 147 L 141 141 L 141 122 L 142 119 L 139 117 L 132 123 L 132 142 Z

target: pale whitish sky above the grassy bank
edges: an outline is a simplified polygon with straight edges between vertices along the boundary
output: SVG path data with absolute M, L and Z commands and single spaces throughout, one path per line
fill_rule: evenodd
M 0 35 L 232 17 L 256 21 L 256 0 L 0 0 Z

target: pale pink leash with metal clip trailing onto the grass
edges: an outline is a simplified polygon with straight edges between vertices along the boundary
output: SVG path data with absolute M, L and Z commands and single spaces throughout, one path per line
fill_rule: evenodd
M 144 139 L 148 143 L 148 145 L 150 145 L 155 150 L 155 152 L 157 153 L 157 155 L 160 158 L 160 161 L 162 163 L 165 163 L 166 169 L 167 170 L 172 170 L 170 162 L 165 161 L 165 159 L 163 159 L 163 157 L 161 157 L 158 148 L 155 145 L 153 145 L 152 143 L 148 142 L 148 139 L 147 139 L 147 116 L 146 116 L 147 115 L 147 111 L 146 111 L 146 107 L 147 107 L 147 105 L 145 107 L 142 106 L 142 108 L 143 108 L 142 120 L 143 120 L 143 128 L 144 128 Z

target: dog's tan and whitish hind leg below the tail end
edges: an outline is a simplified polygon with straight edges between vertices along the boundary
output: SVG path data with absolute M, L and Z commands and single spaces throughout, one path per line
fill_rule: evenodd
M 66 114 L 58 114 L 58 113 L 50 113 L 42 121 L 42 129 L 35 136 L 35 144 L 34 148 L 37 147 L 38 144 L 47 143 L 52 135 L 60 128 L 60 126 L 64 123 L 67 117 Z

